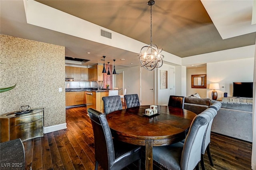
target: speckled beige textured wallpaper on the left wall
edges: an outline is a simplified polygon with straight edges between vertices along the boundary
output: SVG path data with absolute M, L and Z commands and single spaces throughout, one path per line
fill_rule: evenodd
M 0 114 L 44 108 L 44 126 L 66 122 L 65 47 L 0 35 Z M 59 92 L 62 88 L 62 92 Z

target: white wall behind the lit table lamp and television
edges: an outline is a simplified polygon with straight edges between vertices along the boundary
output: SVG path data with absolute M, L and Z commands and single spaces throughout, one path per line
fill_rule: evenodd
M 219 83 L 220 85 L 220 89 L 217 90 L 217 100 L 222 99 L 224 92 L 227 92 L 228 96 L 232 96 L 233 82 L 253 82 L 253 72 L 254 58 L 207 63 L 206 97 L 211 98 L 210 83 Z M 221 88 L 222 86 L 224 88 Z

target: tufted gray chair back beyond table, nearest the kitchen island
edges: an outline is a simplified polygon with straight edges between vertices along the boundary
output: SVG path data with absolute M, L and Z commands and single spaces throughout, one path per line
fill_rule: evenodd
M 104 112 L 105 114 L 109 114 L 116 110 L 122 110 L 122 101 L 120 96 L 105 96 L 102 97 L 104 104 Z

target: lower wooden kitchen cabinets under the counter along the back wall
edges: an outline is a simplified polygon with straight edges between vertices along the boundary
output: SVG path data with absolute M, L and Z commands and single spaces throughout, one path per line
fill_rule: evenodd
M 84 91 L 66 92 L 66 106 L 85 104 Z

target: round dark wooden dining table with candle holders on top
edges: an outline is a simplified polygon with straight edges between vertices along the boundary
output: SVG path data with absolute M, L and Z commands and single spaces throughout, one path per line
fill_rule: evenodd
M 150 106 L 137 106 L 117 110 L 106 115 L 114 138 L 145 146 L 145 169 L 153 169 L 153 146 L 179 142 L 186 137 L 194 112 L 171 106 L 158 106 L 158 114 L 144 115 Z

